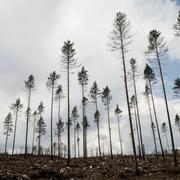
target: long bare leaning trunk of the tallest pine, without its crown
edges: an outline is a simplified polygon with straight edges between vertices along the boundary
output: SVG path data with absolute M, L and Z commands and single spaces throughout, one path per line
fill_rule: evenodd
M 124 56 L 124 44 L 123 44 L 122 32 L 120 32 L 120 36 L 121 36 L 120 41 L 121 41 L 121 53 L 122 53 L 122 60 L 123 60 L 123 71 L 124 71 L 124 83 L 125 83 L 125 91 L 126 91 L 126 101 L 127 101 L 127 107 L 128 107 L 130 130 L 131 130 L 131 135 L 132 135 L 132 146 L 133 146 L 133 152 L 134 152 L 135 168 L 136 168 L 136 174 L 139 174 L 138 162 L 137 162 L 137 156 L 136 156 L 136 145 L 135 145 L 135 140 L 134 140 L 134 132 L 133 132 L 131 110 L 130 110 L 130 103 L 129 103 L 129 93 L 128 93 L 128 85 L 127 85 L 126 63 L 125 63 L 125 56 Z

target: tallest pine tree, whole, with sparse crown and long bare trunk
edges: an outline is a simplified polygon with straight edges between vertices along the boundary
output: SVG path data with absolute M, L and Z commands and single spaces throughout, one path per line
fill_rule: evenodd
M 111 35 L 111 47 L 112 47 L 112 51 L 118 52 L 118 55 L 122 60 L 123 73 L 124 73 L 123 78 L 124 78 L 129 124 L 130 124 L 131 138 L 132 138 L 132 147 L 133 147 L 133 153 L 135 159 L 135 169 L 136 169 L 136 174 L 139 174 L 138 162 L 136 156 L 136 145 L 134 140 L 134 131 L 132 124 L 131 110 L 130 110 L 128 82 L 127 82 L 126 54 L 128 52 L 128 45 L 131 42 L 131 35 L 130 35 L 130 22 L 127 20 L 126 14 L 122 12 L 118 12 L 116 14 L 113 26 L 114 29 Z

